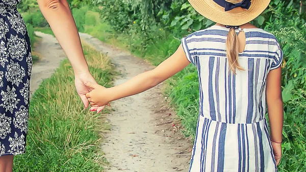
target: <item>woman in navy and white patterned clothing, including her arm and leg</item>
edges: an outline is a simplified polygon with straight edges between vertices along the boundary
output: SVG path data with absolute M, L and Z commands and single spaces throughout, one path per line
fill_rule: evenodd
M 12 171 L 15 155 L 25 152 L 28 133 L 32 56 L 20 13 L 20 0 L 0 0 L 0 172 Z M 74 71 L 75 87 L 85 108 L 89 72 L 80 37 L 66 0 L 38 0 L 39 8 L 65 51 Z M 96 107 L 99 112 L 104 107 Z

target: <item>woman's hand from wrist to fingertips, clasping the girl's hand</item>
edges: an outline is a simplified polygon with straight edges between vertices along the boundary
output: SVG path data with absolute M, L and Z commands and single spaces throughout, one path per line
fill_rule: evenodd
M 90 92 L 90 91 L 92 91 L 93 88 L 92 87 L 88 87 L 87 85 L 85 85 L 85 82 L 94 83 L 96 85 L 98 85 L 98 84 L 95 81 L 95 79 L 92 77 L 90 72 L 75 73 L 74 78 L 75 78 L 74 79 L 75 89 L 77 89 L 77 92 L 78 92 L 78 94 L 81 97 L 81 100 L 82 100 L 82 102 L 84 104 L 84 107 L 88 108 L 89 102 L 88 102 L 85 94 Z M 102 87 L 102 86 L 100 86 L 100 87 Z M 105 108 L 105 106 L 95 106 L 95 107 L 91 107 L 90 111 L 97 111 L 97 113 L 99 113 L 104 108 Z

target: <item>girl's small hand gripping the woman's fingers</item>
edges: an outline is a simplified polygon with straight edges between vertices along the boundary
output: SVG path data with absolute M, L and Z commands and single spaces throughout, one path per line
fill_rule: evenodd
M 111 101 L 107 88 L 100 86 L 99 84 L 93 84 L 91 82 L 86 82 L 85 85 L 93 89 L 86 94 L 86 97 L 92 108 L 108 105 L 108 103 Z

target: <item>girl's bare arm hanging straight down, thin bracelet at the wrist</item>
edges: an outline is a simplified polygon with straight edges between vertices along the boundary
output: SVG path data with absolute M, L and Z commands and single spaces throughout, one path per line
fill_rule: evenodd
M 282 132 L 284 122 L 281 75 L 281 67 L 271 70 L 268 73 L 266 90 L 270 122 L 270 138 L 276 165 L 278 165 L 282 157 Z

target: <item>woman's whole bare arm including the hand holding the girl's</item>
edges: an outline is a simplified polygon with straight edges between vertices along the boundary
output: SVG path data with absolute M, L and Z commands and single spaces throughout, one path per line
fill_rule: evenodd
M 85 96 L 91 91 L 84 82 L 96 83 L 89 72 L 88 64 L 85 60 L 80 36 L 75 26 L 69 5 L 66 0 L 37 0 L 41 13 L 48 21 L 55 37 L 66 53 L 75 76 L 75 88 L 85 106 L 89 102 Z M 100 112 L 104 107 L 95 107 L 94 110 Z

